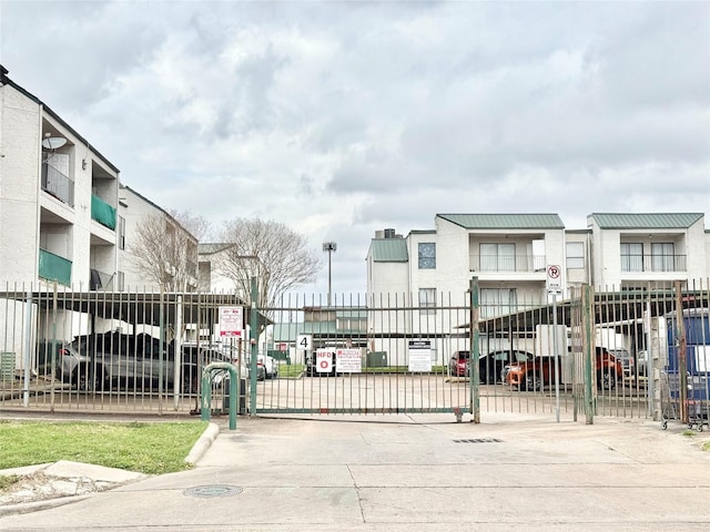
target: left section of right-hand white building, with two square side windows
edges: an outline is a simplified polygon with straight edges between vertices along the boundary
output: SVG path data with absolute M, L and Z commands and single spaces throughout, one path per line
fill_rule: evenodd
M 433 231 L 375 235 L 367 294 L 374 306 L 393 297 L 420 307 L 465 305 L 477 276 L 481 305 L 499 313 L 547 303 L 548 264 L 565 264 L 565 226 L 556 214 L 437 214 Z

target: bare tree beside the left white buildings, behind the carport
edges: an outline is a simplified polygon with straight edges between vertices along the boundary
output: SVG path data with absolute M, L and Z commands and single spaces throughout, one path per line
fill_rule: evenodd
M 191 291 L 197 277 L 197 239 L 168 213 L 146 216 L 128 246 L 135 268 L 165 291 Z

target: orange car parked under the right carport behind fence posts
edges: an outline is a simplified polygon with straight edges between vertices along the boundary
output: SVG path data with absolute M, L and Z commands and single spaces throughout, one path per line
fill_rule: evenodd
M 532 360 L 506 366 L 506 382 L 518 390 L 538 391 L 555 383 L 555 357 L 535 357 Z M 596 348 L 595 371 L 597 387 L 612 390 L 623 379 L 621 362 L 604 347 Z M 559 359 L 559 374 L 562 374 Z

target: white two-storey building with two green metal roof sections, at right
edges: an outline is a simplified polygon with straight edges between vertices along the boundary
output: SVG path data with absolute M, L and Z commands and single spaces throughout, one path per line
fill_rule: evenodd
M 710 276 L 702 213 L 596 213 L 580 229 L 556 214 L 437 214 L 434 224 L 406 237 L 377 232 L 366 258 L 371 307 L 463 305 L 474 276 L 483 313 L 545 305 L 549 265 L 561 267 L 562 298 L 581 284 L 604 291 Z

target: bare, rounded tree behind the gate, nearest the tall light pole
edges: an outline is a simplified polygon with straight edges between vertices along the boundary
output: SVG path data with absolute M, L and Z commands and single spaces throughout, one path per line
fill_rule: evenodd
M 304 235 L 286 225 L 237 218 L 224 224 L 221 241 L 230 243 L 217 264 L 244 301 L 251 304 L 251 278 L 257 278 L 258 301 L 274 308 L 278 299 L 298 285 L 313 283 L 321 259 Z

